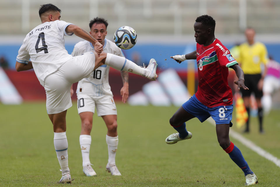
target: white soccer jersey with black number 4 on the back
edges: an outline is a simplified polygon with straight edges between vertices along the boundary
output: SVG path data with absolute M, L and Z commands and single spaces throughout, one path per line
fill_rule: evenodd
M 65 21 L 44 22 L 32 29 L 23 40 L 17 55 L 17 62 L 32 62 L 36 76 L 42 86 L 45 78 L 72 58 L 65 49 L 64 36 L 68 25 Z

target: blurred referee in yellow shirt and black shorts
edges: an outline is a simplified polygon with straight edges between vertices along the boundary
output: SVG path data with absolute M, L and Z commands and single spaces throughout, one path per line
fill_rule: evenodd
M 255 37 L 255 30 L 252 28 L 247 28 L 245 31 L 245 35 L 247 38 L 247 42 L 241 44 L 239 46 L 239 58 L 238 62 L 244 71 L 244 79 L 245 85 L 249 88 L 249 90 L 243 90 L 242 97 L 244 100 L 244 104 L 246 110 L 248 112 L 248 121 L 246 123 L 246 129 L 244 132 L 249 132 L 249 119 L 250 119 L 250 96 L 253 92 L 255 94 L 255 98 L 258 105 L 258 119 L 260 124 L 260 133 L 263 133 L 262 128 L 262 86 L 263 86 L 263 79 L 266 75 L 266 64 L 268 62 L 267 57 L 267 49 L 264 44 L 260 42 L 256 42 L 254 40 Z M 262 73 L 261 64 L 264 65 L 264 71 Z

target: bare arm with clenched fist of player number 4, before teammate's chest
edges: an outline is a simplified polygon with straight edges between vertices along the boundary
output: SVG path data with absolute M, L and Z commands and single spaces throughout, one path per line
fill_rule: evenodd
M 97 52 L 98 55 L 103 51 L 103 46 L 97 41 L 97 39 L 92 37 L 88 32 L 83 30 L 81 27 L 71 24 L 66 27 L 65 32 L 67 33 L 73 32 L 76 36 L 83 38 L 91 42 L 92 44 L 94 44 L 94 50 Z

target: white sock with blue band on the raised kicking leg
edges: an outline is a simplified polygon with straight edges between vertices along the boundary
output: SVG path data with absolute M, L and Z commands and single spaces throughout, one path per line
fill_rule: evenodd
M 143 77 L 149 75 L 149 72 L 145 68 L 138 66 L 134 62 L 124 57 L 113 55 L 111 53 L 107 53 L 105 64 L 113 67 L 116 70 L 131 72 Z

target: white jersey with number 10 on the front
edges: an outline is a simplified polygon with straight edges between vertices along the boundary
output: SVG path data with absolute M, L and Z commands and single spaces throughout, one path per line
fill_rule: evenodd
M 88 51 L 94 51 L 94 46 L 89 41 L 78 42 L 72 52 L 72 56 L 78 56 Z M 114 55 L 124 57 L 122 51 L 116 44 L 110 40 L 104 40 L 103 51 Z M 101 65 L 92 72 L 90 77 L 84 78 L 78 82 L 76 93 L 82 93 L 90 96 L 113 96 L 109 85 L 109 69 L 108 65 Z

